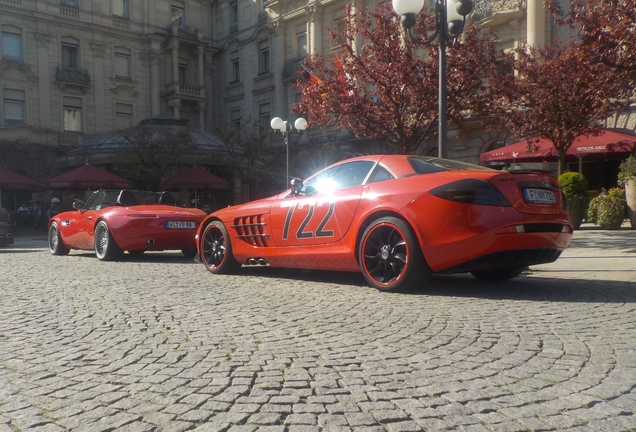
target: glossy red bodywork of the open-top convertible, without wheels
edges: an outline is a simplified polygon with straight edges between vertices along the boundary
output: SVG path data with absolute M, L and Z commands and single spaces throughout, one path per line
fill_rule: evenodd
M 60 239 L 69 249 L 93 250 L 97 223 L 106 221 L 117 245 L 125 251 L 183 250 L 195 247 L 194 236 L 205 212 L 166 204 L 110 205 L 55 215 Z M 167 222 L 191 222 L 194 228 L 168 229 Z

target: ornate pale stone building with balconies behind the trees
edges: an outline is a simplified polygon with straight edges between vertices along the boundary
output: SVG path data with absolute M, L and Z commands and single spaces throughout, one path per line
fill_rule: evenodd
M 28 143 L 59 154 L 157 115 L 208 131 L 293 119 L 298 64 L 308 53 L 332 51 L 325 28 L 342 19 L 346 3 L 0 0 L 0 151 Z M 476 0 L 472 19 L 494 26 L 502 48 L 574 36 L 553 24 L 539 0 Z M 636 129 L 629 113 L 608 122 Z M 514 139 L 475 130 L 458 140 L 454 132 L 449 157 L 474 163 Z M 436 154 L 435 138 L 429 141 L 422 151 Z M 304 145 L 327 142 L 345 153 L 360 151 L 346 131 L 316 127 L 301 138 Z

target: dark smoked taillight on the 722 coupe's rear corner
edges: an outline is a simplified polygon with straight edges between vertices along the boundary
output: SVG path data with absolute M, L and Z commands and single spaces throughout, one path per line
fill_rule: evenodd
M 512 207 L 492 183 L 481 179 L 459 180 L 431 189 L 431 195 L 467 204 Z

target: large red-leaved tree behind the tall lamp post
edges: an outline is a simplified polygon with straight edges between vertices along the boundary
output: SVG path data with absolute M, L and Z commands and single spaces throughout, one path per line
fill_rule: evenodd
M 432 25 L 432 17 L 423 11 L 419 34 L 430 32 Z M 355 12 L 348 5 L 341 28 L 328 29 L 328 34 L 338 50 L 305 60 L 308 73 L 297 82 L 302 101 L 292 110 L 311 126 L 383 139 L 402 154 L 417 150 L 437 119 L 438 45 L 416 53 L 390 2 Z M 490 113 L 487 81 L 499 61 L 495 44 L 494 36 L 480 36 L 469 27 L 456 46 L 448 48 L 447 118 L 460 130 L 467 112 L 480 117 Z

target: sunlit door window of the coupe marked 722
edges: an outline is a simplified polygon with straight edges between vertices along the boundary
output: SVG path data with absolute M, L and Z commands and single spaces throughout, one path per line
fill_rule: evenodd
M 309 179 L 300 191 L 301 195 L 329 193 L 360 186 L 375 165 L 373 161 L 356 161 L 335 166 Z

